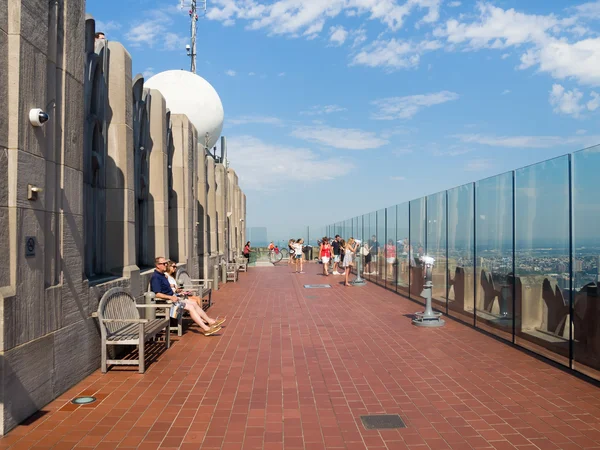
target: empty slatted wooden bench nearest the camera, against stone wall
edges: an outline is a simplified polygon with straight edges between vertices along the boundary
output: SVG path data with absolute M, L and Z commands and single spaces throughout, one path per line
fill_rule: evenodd
M 98 305 L 95 314 L 100 323 L 102 338 L 102 372 L 106 373 L 109 364 L 137 365 L 139 373 L 146 370 L 144 344 L 165 330 L 165 346 L 169 348 L 169 313 L 171 305 L 139 305 L 123 288 L 107 291 Z M 140 308 L 167 309 L 166 318 L 141 319 Z M 108 359 L 109 345 L 137 345 L 138 359 Z

